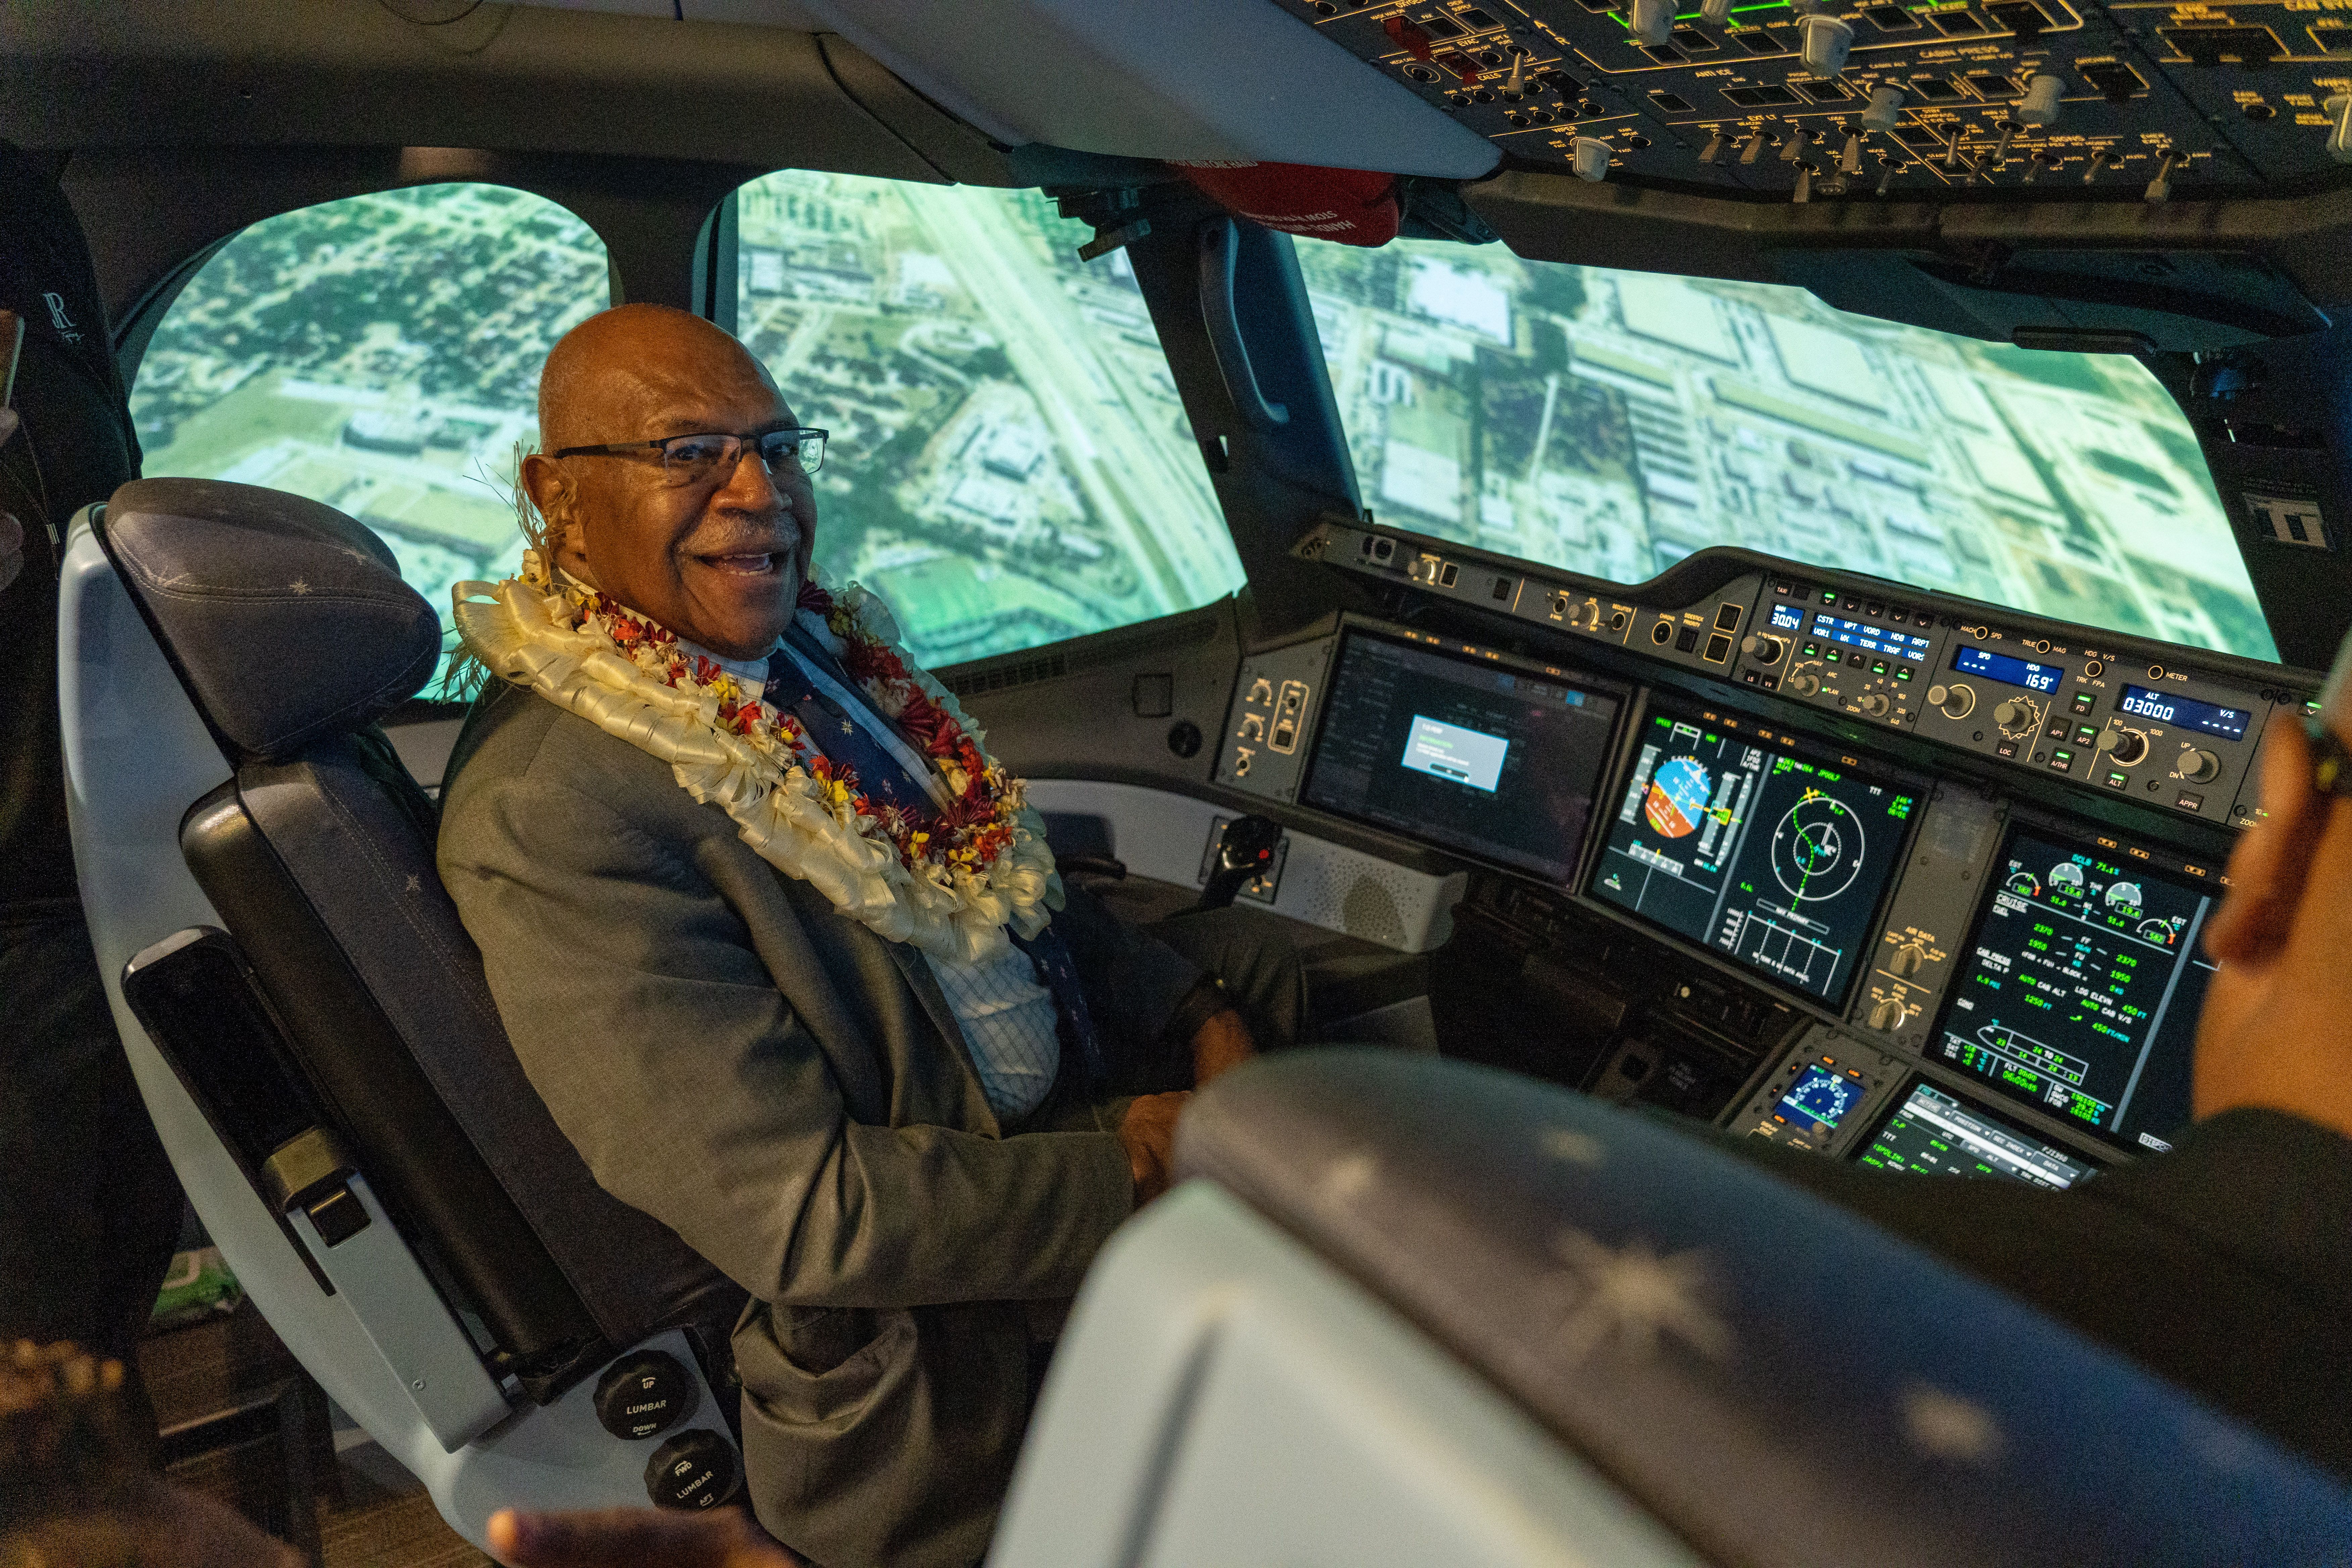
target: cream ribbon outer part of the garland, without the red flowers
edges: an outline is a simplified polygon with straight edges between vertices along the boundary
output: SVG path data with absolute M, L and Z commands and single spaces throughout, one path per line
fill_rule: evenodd
M 459 637 L 492 675 L 668 762 L 687 795 L 727 811 L 736 837 L 762 860 L 807 882 L 875 936 L 913 943 L 948 964 L 985 964 L 1009 947 L 1007 926 L 1037 936 L 1061 907 L 1044 820 L 1023 802 L 1018 778 L 1007 780 L 1009 851 L 978 872 L 934 863 L 910 870 L 882 823 L 861 816 L 844 790 L 814 778 L 790 743 L 762 745 L 722 729 L 720 696 L 691 675 L 677 684 L 659 679 L 604 632 L 574 628 L 562 588 L 524 578 L 459 583 L 452 599 Z M 922 691 L 985 748 L 955 696 L 898 646 L 898 625 L 882 599 L 851 583 L 835 602 L 858 630 L 898 654 Z

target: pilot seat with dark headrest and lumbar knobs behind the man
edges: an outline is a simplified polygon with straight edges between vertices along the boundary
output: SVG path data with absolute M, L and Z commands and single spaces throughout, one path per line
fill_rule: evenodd
M 141 1093 L 301 1363 L 480 1542 L 736 1490 L 746 1293 L 532 1091 L 374 726 L 440 623 L 341 512 L 139 480 L 61 590 L 73 846 Z

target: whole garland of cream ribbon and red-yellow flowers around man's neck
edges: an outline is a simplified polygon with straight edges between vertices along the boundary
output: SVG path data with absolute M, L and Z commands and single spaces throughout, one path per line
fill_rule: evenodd
M 931 816 L 870 799 L 856 769 L 809 745 L 800 719 L 668 628 L 555 581 L 536 552 L 520 576 L 459 583 L 454 597 L 459 635 L 494 675 L 668 762 L 762 860 L 887 940 L 974 964 L 1004 950 L 1007 926 L 1035 936 L 1061 907 L 1023 780 L 981 750 L 985 736 L 908 661 L 889 609 L 856 583 L 837 595 L 807 583 L 797 609 L 826 623 L 849 677 L 938 769 L 948 802 Z

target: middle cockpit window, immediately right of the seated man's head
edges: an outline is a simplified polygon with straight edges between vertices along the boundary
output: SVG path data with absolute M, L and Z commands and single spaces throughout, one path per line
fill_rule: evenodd
M 804 425 L 818 562 L 929 665 L 1148 621 L 1242 562 L 1124 252 L 1037 190 L 781 172 L 736 193 L 736 331 Z

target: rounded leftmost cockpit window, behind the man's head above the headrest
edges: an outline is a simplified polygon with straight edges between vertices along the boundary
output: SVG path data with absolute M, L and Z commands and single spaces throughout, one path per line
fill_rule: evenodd
M 522 557 L 515 454 L 539 367 L 612 301 L 604 242 L 555 202 L 454 183 L 254 223 L 179 292 L 132 386 L 146 473 L 350 512 L 449 635 L 449 585 Z

